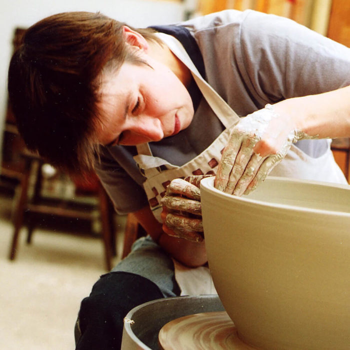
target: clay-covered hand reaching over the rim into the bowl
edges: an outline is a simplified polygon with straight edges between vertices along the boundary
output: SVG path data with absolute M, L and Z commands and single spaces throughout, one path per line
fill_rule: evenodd
M 214 186 L 226 193 L 247 194 L 278 164 L 292 143 L 310 138 L 295 128 L 288 115 L 266 104 L 232 129 L 219 161 Z

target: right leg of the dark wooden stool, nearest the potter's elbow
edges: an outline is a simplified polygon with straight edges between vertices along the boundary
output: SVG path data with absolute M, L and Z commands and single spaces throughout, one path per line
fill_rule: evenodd
M 109 271 L 111 269 L 111 257 L 112 257 L 112 249 L 111 249 L 111 228 L 110 228 L 110 219 L 109 219 L 109 209 L 108 209 L 108 196 L 105 192 L 102 185 L 99 186 L 98 189 L 98 197 L 99 197 L 99 208 L 102 222 L 102 236 L 103 236 L 103 244 L 104 244 L 104 259 L 106 269 Z

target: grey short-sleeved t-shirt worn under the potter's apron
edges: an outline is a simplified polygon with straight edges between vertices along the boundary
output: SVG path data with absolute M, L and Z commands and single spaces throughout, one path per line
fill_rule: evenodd
M 350 84 L 350 49 L 284 17 L 225 10 L 175 26 L 186 28 L 199 47 L 204 78 L 240 116 L 266 103 L 316 94 Z M 153 155 L 182 165 L 204 150 L 223 126 L 202 98 L 191 124 L 151 142 Z M 311 156 L 325 140 L 299 141 Z M 103 148 L 97 174 L 119 213 L 147 205 L 144 177 L 132 158 L 135 147 Z

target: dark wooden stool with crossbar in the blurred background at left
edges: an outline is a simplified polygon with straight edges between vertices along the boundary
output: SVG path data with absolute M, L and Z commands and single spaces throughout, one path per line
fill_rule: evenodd
M 17 252 L 18 237 L 20 229 L 23 225 L 25 213 L 30 214 L 49 214 L 61 217 L 79 218 L 85 220 L 94 219 L 93 210 L 99 211 L 101 221 L 101 238 L 104 246 L 104 260 L 105 267 L 110 270 L 111 258 L 116 255 L 115 247 L 115 233 L 114 233 L 114 208 L 108 198 L 104 188 L 98 182 L 98 189 L 94 196 L 96 197 L 96 204 L 79 203 L 74 200 L 67 200 L 66 198 L 44 198 L 41 195 L 41 165 L 42 159 L 36 155 L 23 151 L 24 169 L 21 174 L 18 193 L 15 196 L 15 206 L 13 214 L 13 235 L 9 249 L 9 259 L 13 260 Z M 36 167 L 34 167 L 36 165 Z M 29 197 L 29 179 L 34 170 L 34 185 L 33 195 Z M 36 221 L 30 220 L 28 223 L 27 242 L 30 243 L 33 228 Z

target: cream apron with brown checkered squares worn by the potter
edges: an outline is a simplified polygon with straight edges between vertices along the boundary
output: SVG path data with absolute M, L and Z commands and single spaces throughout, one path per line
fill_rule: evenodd
M 137 162 L 140 171 L 146 177 L 143 187 L 147 194 L 149 206 L 154 216 L 161 222 L 160 199 L 165 193 L 166 186 L 176 177 L 184 177 L 191 174 L 214 175 L 216 173 L 218 161 L 221 158 L 222 150 L 227 144 L 230 131 L 239 121 L 239 116 L 200 76 L 187 52 L 176 38 L 164 33 L 156 33 L 156 35 L 164 41 L 170 50 L 190 69 L 207 103 L 225 126 L 225 130 L 220 133 L 208 148 L 182 166 L 176 166 L 168 163 L 165 159 L 154 157 L 148 143 L 136 146 L 138 155 L 135 155 L 133 158 Z M 322 169 L 326 169 L 326 171 L 322 171 Z M 337 167 L 330 149 L 320 158 L 315 159 L 307 156 L 292 145 L 285 159 L 276 165 L 272 171 L 275 176 L 346 183 L 345 177 Z M 188 268 L 176 260 L 174 260 L 174 266 L 175 278 L 181 288 L 181 295 L 216 293 L 207 267 Z

